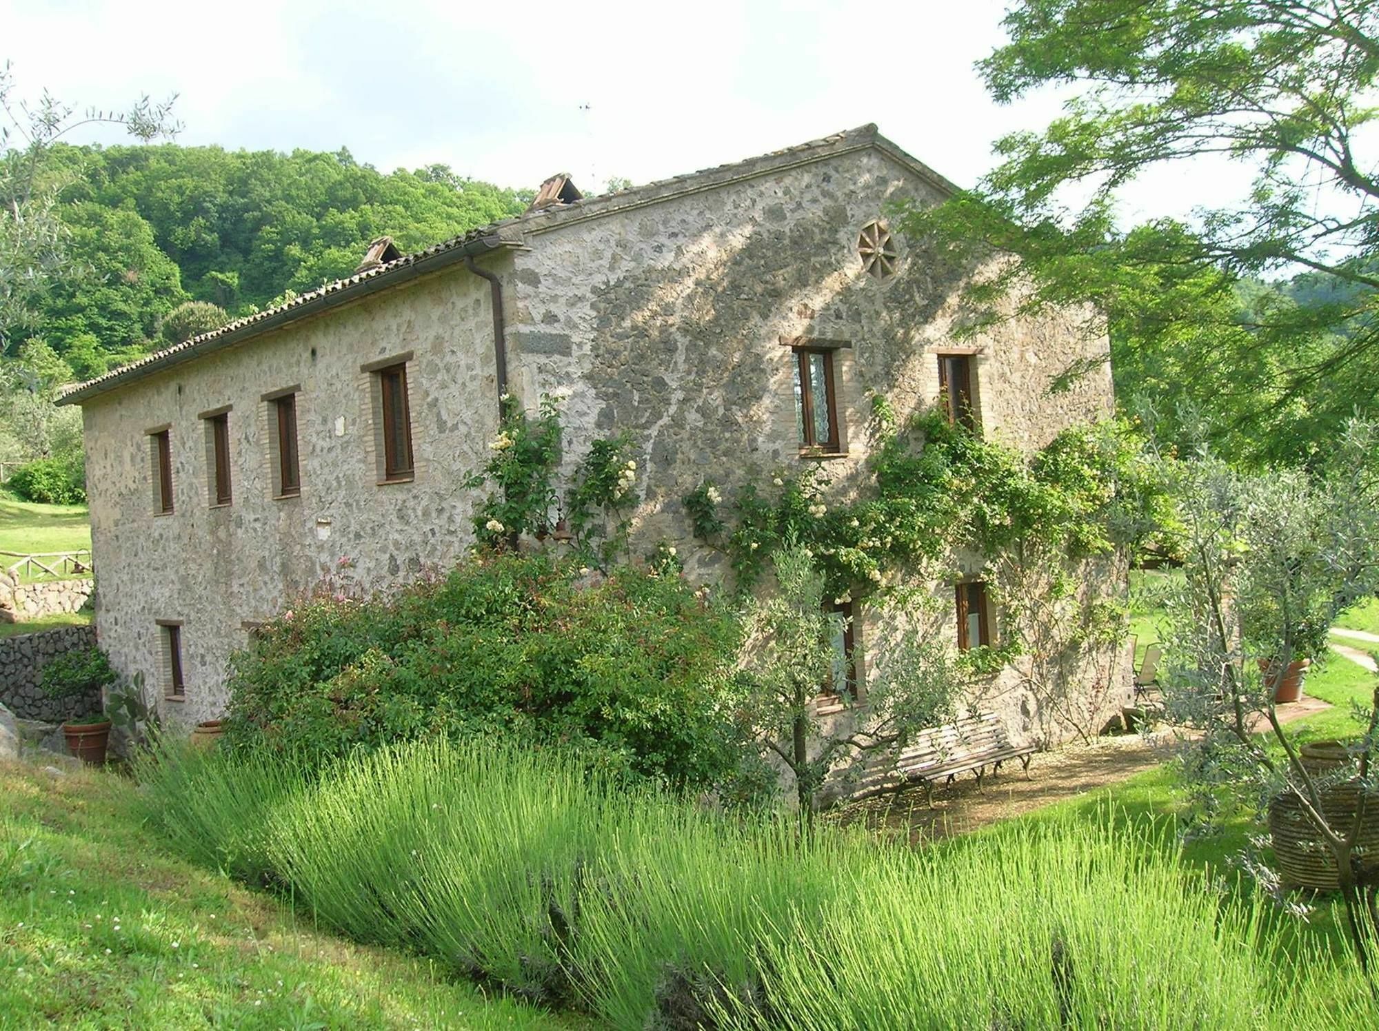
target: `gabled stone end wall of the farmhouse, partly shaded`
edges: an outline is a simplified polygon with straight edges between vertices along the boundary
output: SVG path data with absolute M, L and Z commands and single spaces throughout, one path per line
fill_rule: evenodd
M 894 276 L 862 267 L 860 230 L 885 221 L 891 201 L 938 203 L 940 190 L 887 153 L 863 149 L 723 186 L 691 200 L 619 218 L 581 219 L 576 210 L 528 232 L 516 254 L 512 364 L 521 397 L 574 387 L 567 402 L 567 465 L 596 437 L 629 429 L 644 470 L 633 554 L 674 543 L 694 580 L 724 575 L 723 557 L 694 539 L 681 498 L 712 480 L 731 500 L 746 485 L 822 465 L 830 491 L 854 495 L 870 455 L 870 394 L 896 416 L 939 400 L 939 356 L 974 361 L 982 431 L 1022 452 L 1113 411 L 1109 360 L 1056 397 L 1054 379 L 1073 363 L 1109 353 L 1088 336 L 1087 310 L 1012 317 L 961 342 L 958 294 L 969 270 L 894 237 Z M 829 340 L 834 354 L 841 455 L 800 448 L 794 354 L 783 342 Z M 986 557 L 954 554 L 958 578 L 990 575 Z M 1089 590 L 1124 595 L 1124 555 L 1096 564 Z M 895 613 L 862 604 L 860 675 L 884 659 L 899 633 L 956 640 L 953 583 L 927 584 L 942 613 L 898 629 Z M 997 613 L 997 623 L 1000 623 Z M 1078 675 L 1118 711 L 1128 688 L 1124 660 L 1107 653 Z M 1110 668 L 1110 684 L 1105 684 Z M 1071 736 L 1007 670 L 980 704 L 1015 737 L 1054 743 Z

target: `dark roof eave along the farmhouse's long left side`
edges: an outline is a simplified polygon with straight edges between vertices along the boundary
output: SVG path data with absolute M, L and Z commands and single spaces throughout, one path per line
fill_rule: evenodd
M 466 240 L 458 247 L 418 258 L 416 261 L 400 265 L 396 269 L 387 269 L 386 272 L 381 272 L 378 276 L 371 276 L 357 283 L 349 283 L 339 289 L 319 294 L 310 300 L 285 307 L 281 312 L 274 312 L 262 320 L 248 323 L 247 325 L 232 329 L 228 334 L 211 335 L 201 343 L 196 343 L 193 340 L 188 347 L 170 349 L 161 354 L 150 356 L 148 361 L 131 365 L 128 369 L 123 371 L 123 375 L 117 372 L 110 379 L 97 379 L 68 390 L 57 398 L 57 404 L 81 404 L 92 397 L 99 397 L 101 394 L 106 394 L 113 390 L 121 390 L 139 379 L 157 375 L 159 372 L 165 372 L 167 369 L 181 365 L 185 361 L 196 361 L 207 354 L 214 354 L 225 347 L 233 347 L 244 343 L 245 340 L 254 339 L 255 336 L 262 336 L 263 334 L 273 332 L 274 329 L 283 329 L 306 318 L 314 318 L 324 312 L 348 305 L 353 300 L 360 300 L 371 294 L 392 289 L 422 276 L 440 272 L 451 265 L 463 262 L 465 258 L 520 245 L 520 241 L 509 240 L 498 234 Z

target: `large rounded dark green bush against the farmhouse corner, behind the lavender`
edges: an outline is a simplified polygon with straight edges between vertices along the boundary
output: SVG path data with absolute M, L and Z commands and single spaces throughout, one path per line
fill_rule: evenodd
M 738 638 L 678 578 L 477 557 L 393 597 L 317 594 L 284 613 L 232 663 L 226 740 L 321 762 L 506 737 L 699 788 L 741 757 L 723 702 Z

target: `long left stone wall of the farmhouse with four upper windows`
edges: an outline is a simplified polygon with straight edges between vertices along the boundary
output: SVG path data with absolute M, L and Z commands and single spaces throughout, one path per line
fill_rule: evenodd
M 368 590 L 452 562 L 470 543 L 459 489 L 498 425 L 488 284 L 465 269 L 207 356 L 83 407 L 101 645 L 168 692 L 179 624 L 185 695 L 165 721 L 221 714 L 230 653 L 353 560 Z M 375 376 L 407 358 L 415 476 L 381 484 Z M 301 493 L 274 495 L 269 401 L 296 387 Z M 229 405 L 232 503 L 211 504 L 201 414 Z M 168 427 L 174 510 L 154 511 L 149 430 Z M 214 474 L 212 474 L 214 476 Z

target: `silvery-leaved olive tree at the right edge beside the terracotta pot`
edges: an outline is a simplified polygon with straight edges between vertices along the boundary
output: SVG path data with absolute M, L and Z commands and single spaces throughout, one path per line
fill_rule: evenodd
M 1357 848 L 1379 821 L 1371 770 L 1379 744 L 1379 684 L 1358 711 L 1353 762 L 1318 775 L 1303 764 L 1276 695 L 1294 660 L 1322 660 L 1336 616 L 1379 587 L 1379 427 L 1353 420 L 1318 470 L 1247 476 L 1201 452 L 1175 462 L 1183 579 L 1168 598 L 1164 700 L 1174 724 L 1200 732 L 1185 753 L 1196 812 L 1225 799 L 1256 815 L 1296 805 L 1335 860 L 1347 928 L 1368 970 L 1379 936 L 1379 856 Z M 1358 804 L 1338 819 L 1328 793 L 1356 779 Z M 1277 875 L 1245 866 L 1273 889 Z

